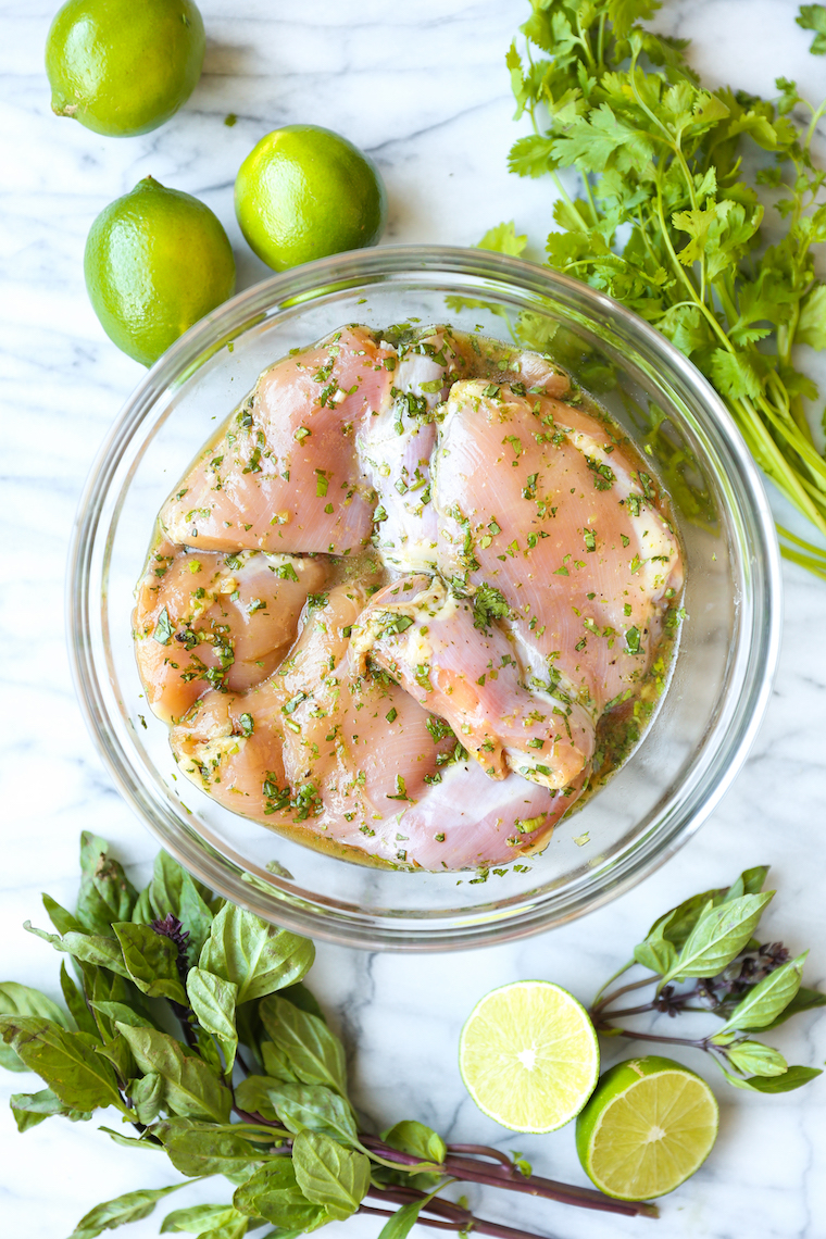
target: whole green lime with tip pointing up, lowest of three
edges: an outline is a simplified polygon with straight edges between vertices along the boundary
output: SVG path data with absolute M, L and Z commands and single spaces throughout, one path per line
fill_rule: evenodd
M 151 176 L 100 212 L 83 271 L 103 330 L 144 366 L 235 289 L 235 259 L 220 221 L 203 202 Z

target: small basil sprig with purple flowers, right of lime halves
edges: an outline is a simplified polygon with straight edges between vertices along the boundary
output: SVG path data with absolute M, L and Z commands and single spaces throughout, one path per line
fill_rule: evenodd
M 774 896 L 763 892 L 767 873 L 765 865 L 748 869 L 732 886 L 692 895 L 655 921 L 634 958 L 597 994 L 591 1007 L 597 1032 L 705 1049 L 729 1084 L 758 1093 L 786 1093 L 820 1075 L 814 1067 L 789 1067 L 778 1049 L 752 1036 L 826 1005 L 826 994 L 800 984 L 809 952 L 793 959 L 783 943 L 755 937 Z M 606 994 L 635 964 L 649 975 Z M 656 985 L 649 1002 L 617 1010 L 618 999 L 649 985 Z M 723 1026 L 696 1038 L 624 1026 L 632 1016 L 684 1011 L 716 1015 Z

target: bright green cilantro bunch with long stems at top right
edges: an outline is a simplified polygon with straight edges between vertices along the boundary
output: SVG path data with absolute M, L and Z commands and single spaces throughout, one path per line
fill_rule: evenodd
M 506 63 L 516 116 L 528 113 L 534 133 L 514 144 L 509 166 L 556 183 L 549 265 L 622 301 L 690 357 L 758 465 L 826 538 L 826 460 L 804 406 L 817 388 L 794 352 L 826 347 L 814 263 L 826 240 L 826 172 L 811 159 L 826 102 L 814 108 L 786 78 L 772 102 L 703 89 L 685 40 L 638 25 L 659 7 L 531 0 L 525 55 L 514 43 Z M 826 7 L 804 5 L 798 22 L 816 32 L 811 51 L 826 53 Z M 746 176 L 749 147 L 763 165 L 753 180 L 781 221 L 769 245 Z M 570 167 L 582 197 L 557 175 Z M 503 224 L 480 244 L 519 254 L 526 238 Z M 789 559 L 826 577 L 826 550 L 779 532 Z

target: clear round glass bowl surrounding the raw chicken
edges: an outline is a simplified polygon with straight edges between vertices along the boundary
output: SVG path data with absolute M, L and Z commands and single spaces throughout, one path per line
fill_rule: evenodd
M 687 561 L 669 689 L 632 757 L 524 872 L 365 869 L 234 815 L 183 779 L 147 710 L 130 618 L 162 501 L 266 366 L 343 322 L 443 322 L 536 343 L 645 451 Z M 68 582 L 78 695 L 116 783 L 162 846 L 223 896 L 300 933 L 443 950 L 561 924 L 627 891 L 708 817 L 767 704 L 779 646 L 767 498 L 724 406 L 663 336 L 583 284 L 476 249 L 388 247 L 241 292 L 182 336 L 126 401 L 94 465 Z

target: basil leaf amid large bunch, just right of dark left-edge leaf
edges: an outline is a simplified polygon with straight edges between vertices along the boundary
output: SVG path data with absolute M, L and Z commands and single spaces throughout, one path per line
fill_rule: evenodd
M 233 1095 L 197 1056 L 186 1054 L 180 1041 L 156 1028 L 115 1023 L 142 1072 L 157 1072 L 166 1085 L 166 1104 L 173 1114 L 228 1123 Z

